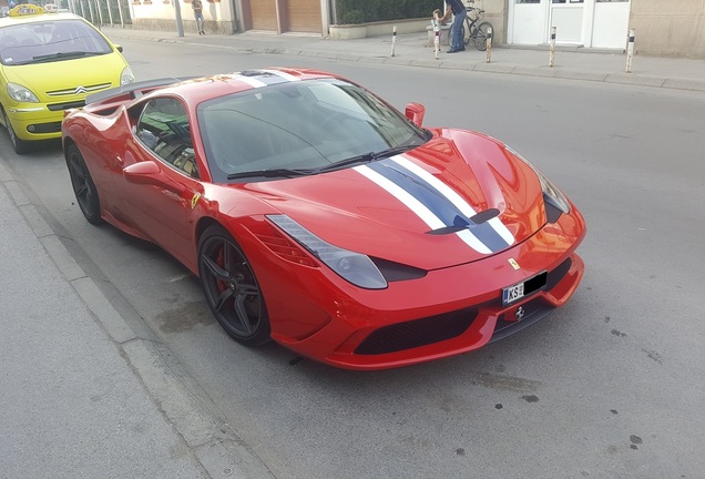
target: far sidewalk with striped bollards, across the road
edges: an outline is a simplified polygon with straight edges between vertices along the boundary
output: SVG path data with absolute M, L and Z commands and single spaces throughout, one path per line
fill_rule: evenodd
M 374 62 L 408 67 L 470 70 L 504 74 L 551 77 L 657 88 L 705 91 L 705 60 L 657 58 L 635 54 L 632 72 L 626 73 L 626 54 L 622 51 L 556 47 L 554 67 L 549 67 L 548 47 L 494 47 L 491 62 L 487 53 L 469 48 L 448 54 L 441 49 L 436 60 L 426 32 L 397 35 L 391 57 L 392 35 L 358 40 L 330 40 L 319 35 L 245 32 L 232 35 L 147 31 L 104 27 L 103 33 L 120 39 L 142 39 L 226 48 L 245 53 L 270 53 L 316 57 L 335 60 Z M 636 45 L 638 51 L 638 45 Z

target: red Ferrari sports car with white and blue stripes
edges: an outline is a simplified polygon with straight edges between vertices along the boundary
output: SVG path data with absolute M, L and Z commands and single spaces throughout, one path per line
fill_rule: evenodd
M 520 330 L 584 269 L 584 220 L 546 176 L 423 114 L 335 74 L 252 70 L 89 96 L 63 151 L 86 220 L 182 262 L 235 340 L 382 369 Z

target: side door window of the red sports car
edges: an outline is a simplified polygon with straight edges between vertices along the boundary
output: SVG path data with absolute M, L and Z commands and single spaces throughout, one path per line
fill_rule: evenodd
M 162 98 L 147 102 L 136 128 L 140 141 L 166 163 L 198 177 L 186 110 L 178 100 Z

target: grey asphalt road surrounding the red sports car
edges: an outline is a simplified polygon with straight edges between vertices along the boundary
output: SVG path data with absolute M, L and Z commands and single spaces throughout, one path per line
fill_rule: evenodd
M 184 267 L 84 221 L 58 143 L 20 157 L 0 137 L 0 155 L 79 263 L 276 477 L 702 477 L 705 94 L 121 43 L 141 79 L 315 67 L 399 109 L 421 102 L 429 125 L 505 141 L 586 217 L 588 269 L 561 310 L 461 357 L 352 373 L 236 345 Z

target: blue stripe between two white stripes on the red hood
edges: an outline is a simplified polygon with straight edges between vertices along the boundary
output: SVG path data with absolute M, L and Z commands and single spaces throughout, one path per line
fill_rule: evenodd
M 391 160 L 381 160 L 367 165 L 385 176 L 423 204 L 446 226 L 469 226 L 470 232 L 492 253 L 500 252 L 509 244 L 489 223 L 476 224 L 462 214 L 446 196 L 416 173 Z

